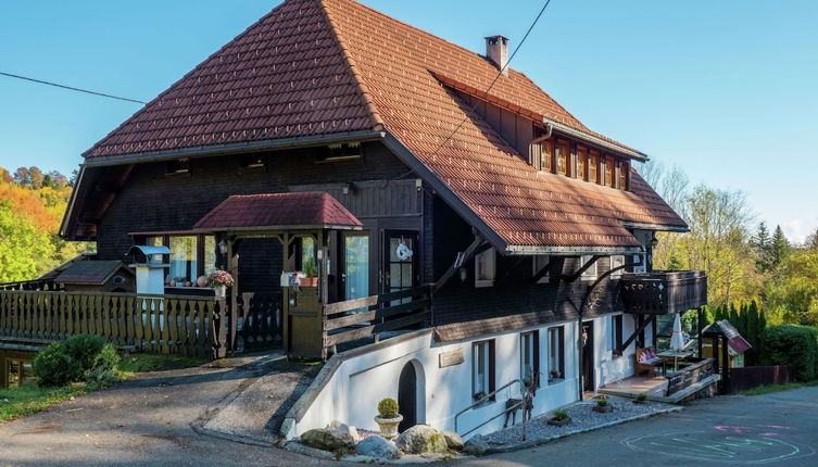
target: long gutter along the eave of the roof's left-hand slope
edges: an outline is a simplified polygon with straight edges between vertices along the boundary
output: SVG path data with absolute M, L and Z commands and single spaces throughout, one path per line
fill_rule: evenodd
M 329 135 L 282 138 L 263 141 L 238 142 L 231 144 L 218 146 L 199 146 L 196 148 L 184 148 L 172 151 L 140 152 L 127 155 L 97 156 L 88 157 L 83 163 L 83 167 L 104 167 L 111 165 L 122 165 L 131 163 L 147 163 L 169 161 L 179 157 L 205 157 L 224 154 L 239 154 L 244 152 L 255 152 L 262 150 L 281 150 L 306 148 L 311 146 L 324 146 L 336 142 L 349 141 L 374 141 L 383 137 L 382 130 L 362 130 L 335 132 Z M 78 185 L 78 184 L 77 184 Z

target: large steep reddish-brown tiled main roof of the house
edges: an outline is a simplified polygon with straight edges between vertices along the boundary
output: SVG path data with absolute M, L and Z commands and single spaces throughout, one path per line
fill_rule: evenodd
M 524 162 L 453 90 L 484 90 L 496 74 L 486 58 L 352 0 L 289 0 L 86 156 L 386 128 L 508 245 L 635 247 L 622 222 L 687 227 L 635 172 L 622 191 Z M 604 138 L 514 70 L 489 100 Z

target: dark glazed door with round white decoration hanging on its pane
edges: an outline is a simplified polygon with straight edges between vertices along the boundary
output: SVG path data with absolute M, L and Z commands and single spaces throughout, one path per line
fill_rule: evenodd
M 417 268 L 417 232 L 386 230 L 383 232 L 383 293 L 411 289 L 419 283 Z M 411 301 L 411 298 L 393 304 Z

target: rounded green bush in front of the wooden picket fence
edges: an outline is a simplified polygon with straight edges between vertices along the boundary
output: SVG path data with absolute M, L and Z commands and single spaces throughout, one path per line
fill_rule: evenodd
M 118 363 L 116 349 L 104 339 L 77 335 L 38 353 L 34 358 L 34 374 L 42 386 L 91 380 L 109 383 L 116 379 Z

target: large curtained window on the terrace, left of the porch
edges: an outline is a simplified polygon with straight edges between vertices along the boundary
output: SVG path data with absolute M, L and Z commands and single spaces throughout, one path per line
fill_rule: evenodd
M 152 235 L 144 238 L 143 244 L 167 245 L 171 250 L 165 287 L 196 287 L 200 276 L 216 269 L 216 239 L 213 236 Z

